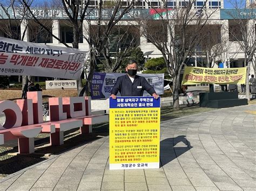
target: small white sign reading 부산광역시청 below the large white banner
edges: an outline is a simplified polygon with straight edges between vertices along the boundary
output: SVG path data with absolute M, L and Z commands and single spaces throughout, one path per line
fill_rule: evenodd
M 49 80 L 45 81 L 46 89 L 76 89 L 76 80 Z

